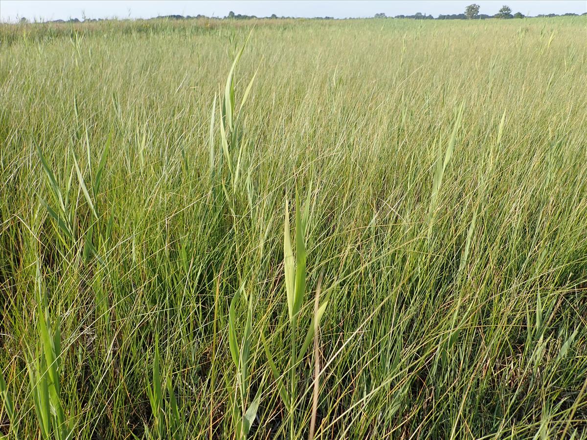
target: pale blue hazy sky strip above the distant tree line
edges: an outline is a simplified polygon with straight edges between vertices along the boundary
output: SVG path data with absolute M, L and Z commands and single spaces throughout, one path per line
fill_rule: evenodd
M 493 15 L 506 4 L 512 12 L 524 15 L 587 12 L 587 0 L 0 0 L 0 19 L 16 21 L 67 20 L 69 18 L 151 18 L 157 15 L 225 16 L 229 11 L 245 15 L 334 18 L 371 17 L 383 12 L 388 16 L 413 15 L 416 12 L 438 16 L 464 12 L 476 3 L 480 13 Z

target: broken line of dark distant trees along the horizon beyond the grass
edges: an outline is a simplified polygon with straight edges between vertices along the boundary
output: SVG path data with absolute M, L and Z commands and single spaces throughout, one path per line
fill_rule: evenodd
M 465 12 L 463 13 L 453 13 L 453 14 L 440 14 L 437 18 L 434 18 L 432 15 L 427 15 L 426 13 L 416 12 L 414 15 L 396 15 L 396 16 L 387 16 L 383 12 L 376 13 L 374 18 L 411 18 L 414 20 L 467 20 L 467 19 L 477 19 L 477 20 L 484 20 L 488 18 L 501 18 L 501 19 L 508 19 L 508 18 L 525 18 L 525 15 L 521 12 L 516 12 L 512 14 L 512 10 L 510 6 L 504 5 L 495 15 L 487 15 L 485 13 L 479 13 L 481 7 L 477 4 L 468 5 L 465 8 Z M 556 17 L 556 16 L 578 16 L 578 13 L 567 12 L 561 15 L 557 15 L 555 13 L 549 14 L 538 14 L 537 17 Z M 587 12 L 583 12 L 581 15 L 587 15 Z M 268 17 L 258 17 L 256 15 L 245 15 L 241 13 L 234 13 L 232 11 L 228 12 L 228 15 L 224 17 L 208 17 L 205 15 L 160 15 L 153 19 L 168 19 L 168 20 L 188 20 L 188 19 L 217 19 L 217 20 L 248 20 L 248 19 L 293 19 L 296 17 L 285 17 L 281 16 L 278 17 L 275 14 L 271 14 Z M 313 17 L 311 19 L 315 20 L 333 20 L 334 17 Z M 92 19 L 92 18 L 84 18 L 84 22 L 95 22 L 95 21 L 103 21 L 104 19 Z M 28 20 L 26 18 L 21 18 L 21 23 L 27 23 Z M 80 20 L 77 18 L 70 18 L 69 20 L 53 20 L 50 23 L 79 23 Z

